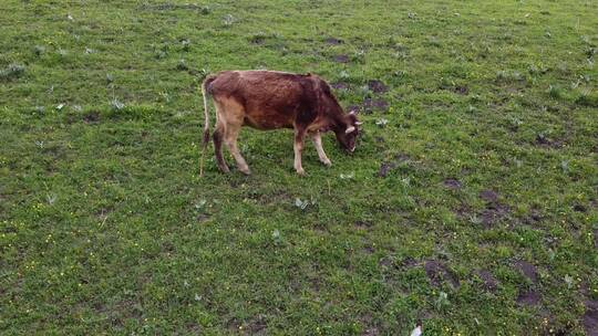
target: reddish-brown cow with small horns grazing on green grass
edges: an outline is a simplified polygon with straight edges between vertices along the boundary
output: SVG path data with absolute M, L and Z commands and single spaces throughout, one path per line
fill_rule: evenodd
M 344 114 L 330 86 L 312 74 L 275 71 L 224 71 L 208 76 L 202 84 L 204 95 L 204 151 L 209 141 L 207 95 L 216 106 L 214 148 L 218 168 L 228 172 L 223 158 L 223 140 L 237 161 L 240 171 L 249 175 L 249 167 L 237 148 L 237 136 L 244 125 L 257 129 L 295 129 L 295 169 L 303 175 L 301 150 L 303 137 L 310 135 L 320 161 L 330 166 L 322 148 L 320 133 L 334 132 L 338 141 L 349 151 L 355 149 L 360 123 L 353 112 Z M 203 172 L 203 158 L 202 168 Z

